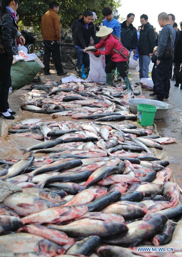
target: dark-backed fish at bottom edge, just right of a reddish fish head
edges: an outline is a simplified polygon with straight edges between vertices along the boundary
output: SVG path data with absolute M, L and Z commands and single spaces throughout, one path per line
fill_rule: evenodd
M 65 254 L 83 254 L 85 256 L 90 256 L 90 254 L 99 246 L 100 241 L 101 239 L 99 236 L 86 237 L 68 248 Z

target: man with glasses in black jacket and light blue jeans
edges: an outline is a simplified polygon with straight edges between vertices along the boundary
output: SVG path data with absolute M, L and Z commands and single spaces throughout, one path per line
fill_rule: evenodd
M 139 76 L 141 78 L 148 78 L 148 67 L 154 49 L 155 33 L 153 26 L 148 22 L 148 16 L 142 14 L 140 16 L 141 29 L 138 40 L 139 52 Z

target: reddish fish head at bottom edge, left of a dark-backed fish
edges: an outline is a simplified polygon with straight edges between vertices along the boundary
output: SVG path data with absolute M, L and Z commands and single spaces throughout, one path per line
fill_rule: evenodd
M 48 253 L 51 256 L 64 254 L 65 249 L 58 244 L 55 244 L 47 239 L 39 241 L 40 252 Z

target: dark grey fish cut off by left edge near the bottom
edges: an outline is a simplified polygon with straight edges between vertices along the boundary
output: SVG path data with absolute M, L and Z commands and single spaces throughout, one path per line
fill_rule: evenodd
M 0 234 L 5 231 L 15 231 L 23 225 L 24 222 L 19 217 L 0 215 Z

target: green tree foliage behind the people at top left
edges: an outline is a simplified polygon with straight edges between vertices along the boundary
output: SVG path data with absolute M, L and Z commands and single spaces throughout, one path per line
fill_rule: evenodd
M 102 9 L 105 6 L 111 7 L 114 12 L 120 5 L 120 0 L 57 0 L 57 2 L 59 3 L 58 14 L 62 26 L 70 26 L 76 16 L 79 13 L 83 14 L 86 10 L 95 12 L 99 22 L 104 18 Z M 17 10 L 20 21 L 24 23 L 24 26 L 33 26 L 40 30 L 41 19 L 44 13 L 48 11 L 49 3 L 50 0 L 22 0 Z

